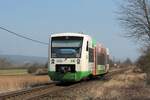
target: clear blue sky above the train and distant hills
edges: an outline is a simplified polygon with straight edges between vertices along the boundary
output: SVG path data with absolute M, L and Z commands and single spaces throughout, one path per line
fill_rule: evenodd
M 116 0 L 0 0 L 0 26 L 43 42 L 52 33 L 84 32 L 113 58 L 135 60 L 139 46 L 123 37 L 116 11 Z M 47 57 L 48 47 L 0 30 L 0 54 Z

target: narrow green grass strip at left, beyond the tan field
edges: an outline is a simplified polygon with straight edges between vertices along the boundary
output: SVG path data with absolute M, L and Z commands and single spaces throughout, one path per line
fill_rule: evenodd
M 0 75 L 25 75 L 27 69 L 0 69 Z

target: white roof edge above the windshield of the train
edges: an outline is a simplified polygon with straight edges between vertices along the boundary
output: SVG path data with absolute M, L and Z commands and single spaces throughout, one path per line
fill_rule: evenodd
M 79 37 L 90 37 L 89 35 L 86 35 L 84 33 L 55 33 L 52 34 L 50 37 L 58 37 L 58 36 L 79 36 Z

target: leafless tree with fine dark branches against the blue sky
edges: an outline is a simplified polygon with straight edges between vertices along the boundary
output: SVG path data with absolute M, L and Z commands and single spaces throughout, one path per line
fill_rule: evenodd
M 119 10 L 119 21 L 125 28 L 125 36 L 150 43 L 150 1 L 124 0 Z

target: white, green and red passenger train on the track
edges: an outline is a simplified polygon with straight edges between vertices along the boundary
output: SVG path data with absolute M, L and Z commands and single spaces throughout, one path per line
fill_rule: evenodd
M 49 38 L 48 75 L 77 82 L 109 72 L 109 49 L 84 33 L 55 33 Z

